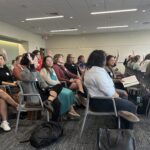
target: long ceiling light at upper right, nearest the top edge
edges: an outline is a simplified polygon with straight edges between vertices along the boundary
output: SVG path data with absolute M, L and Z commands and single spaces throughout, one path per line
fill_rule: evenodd
M 91 15 L 99 15 L 99 14 L 112 14 L 112 13 L 122 13 L 122 12 L 132 12 L 137 11 L 137 8 L 134 9 L 122 9 L 122 10 L 110 10 L 110 11 L 100 11 L 100 12 L 91 12 Z

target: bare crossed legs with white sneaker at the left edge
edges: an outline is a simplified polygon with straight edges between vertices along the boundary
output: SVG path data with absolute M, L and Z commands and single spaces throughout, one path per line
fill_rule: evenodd
M 14 108 L 18 109 L 19 104 L 16 103 L 6 92 L 0 89 L 0 116 L 2 117 L 2 123 L 0 127 L 4 131 L 10 131 L 11 128 L 7 122 L 7 105 L 10 104 Z

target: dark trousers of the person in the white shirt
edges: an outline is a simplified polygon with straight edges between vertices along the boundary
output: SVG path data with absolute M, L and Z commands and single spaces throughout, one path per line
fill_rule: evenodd
M 136 106 L 125 99 L 116 99 L 116 109 L 117 111 L 128 111 L 131 112 L 133 114 L 136 114 Z M 95 99 L 95 98 L 91 98 L 90 99 L 90 109 L 92 111 L 96 111 L 96 112 L 113 112 L 113 103 L 110 100 L 99 100 L 99 99 Z M 122 129 L 133 129 L 133 123 L 125 120 L 124 118 L 120 118 L 121 119 L 121 128 Z

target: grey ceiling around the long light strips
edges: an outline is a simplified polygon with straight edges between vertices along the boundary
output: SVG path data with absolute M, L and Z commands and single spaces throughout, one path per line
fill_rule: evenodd
M 90 15 L 92 11 L 132 8 L 138 8 L 138 11 Z M 143 12 L 143 10 L 146 11 Z M 24 21 L 26 18 L 50 16 L 51 13 L 64 15 L 64 18 Z M 144 30 L 150 29 L 150 0 L 0 0 L 0 21 L 41 35 L 51 35 L 50 30 L 68 28 L 78 28 L 79 30 L 57 34 Z M 128 28 L 96 29 L 98 26 L 126 24 L 129 25 Z

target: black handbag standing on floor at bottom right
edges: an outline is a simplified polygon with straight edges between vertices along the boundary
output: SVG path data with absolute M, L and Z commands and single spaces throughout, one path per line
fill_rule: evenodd
M 97 141 L 98 150 L 135 150 L 135 138 L 131 130 L 100 128 Z

